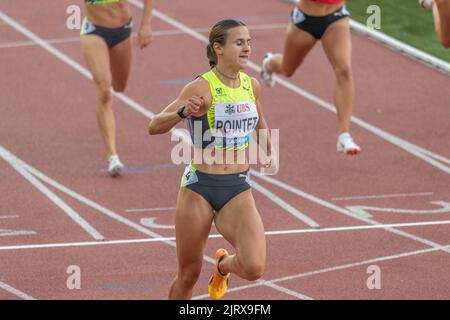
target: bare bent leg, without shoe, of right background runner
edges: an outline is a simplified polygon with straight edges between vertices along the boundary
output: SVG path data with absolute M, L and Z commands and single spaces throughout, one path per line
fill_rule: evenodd
M 311 34 L 289 22 L 283 54 L 274 54 L 267 60 L 266 71 L 286 77 L 292 76 L 316 42 L 317 40 Z

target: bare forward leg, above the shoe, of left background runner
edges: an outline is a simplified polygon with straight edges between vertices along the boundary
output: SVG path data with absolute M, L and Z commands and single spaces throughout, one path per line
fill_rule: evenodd
M 115 119 L 112 110 L 111 70 L 108 46 L 95 35 L 81 36 L 81 48 L 97 88 L 97 124 L 108 157 L 116 154 Z

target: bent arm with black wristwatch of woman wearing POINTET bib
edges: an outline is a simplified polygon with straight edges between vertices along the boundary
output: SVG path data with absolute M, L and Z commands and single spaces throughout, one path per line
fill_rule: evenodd
M 203 80 L 204 81 L 204 80 Z M 148 133 L 162 134 L 170 131 L 182 118 L 178 115 L 178 109 L 184 106 L 183 115 L 187 118 L 201 112 L 200 108 L 204 104 L 202 80 L 194 80 L 181 90 L 178 98 L 169 104 L 163 111 L 155 115 L 148 125 Z

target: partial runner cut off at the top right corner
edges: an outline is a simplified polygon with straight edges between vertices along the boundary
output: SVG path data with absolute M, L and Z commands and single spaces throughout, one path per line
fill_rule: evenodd
M 444 48 L 450 48 L 450 0 L 419 0 L 426 9 L 433 10 L 434 27 Z

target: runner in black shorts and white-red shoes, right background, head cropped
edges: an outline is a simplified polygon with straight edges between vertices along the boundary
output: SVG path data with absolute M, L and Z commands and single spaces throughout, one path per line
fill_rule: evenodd
M 339 122 L 337 151 L 359 154 L 361 148 L 350 135 L 354 85 L 351 68 L 349 12 L 343 0 L 301 0 L 292 10 L 283 54 L 266 53 L 261 78 L 275 85 L 274 73 L 291 77 L 317 41 L 322 46 L 336 75 L 334 104 Z

